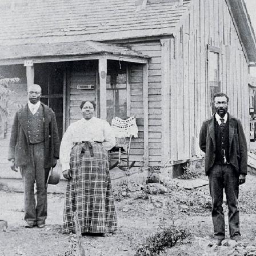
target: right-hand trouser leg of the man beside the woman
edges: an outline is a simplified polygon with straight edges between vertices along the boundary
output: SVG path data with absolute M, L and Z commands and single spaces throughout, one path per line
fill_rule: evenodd
M 47 217 L 47 189 L 45 187 L 44 143 L 34 145 L 35 182 L 37 184 L 37 223 L 45 223 Z

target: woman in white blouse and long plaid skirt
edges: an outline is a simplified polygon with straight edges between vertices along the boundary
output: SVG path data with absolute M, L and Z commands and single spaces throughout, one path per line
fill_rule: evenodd
M 63 233 L 75 233 L 76 211 L 81 233 L 113 233 L 117 215 L 107 150 L 115 146 L 114 133 L 105 120 L 93 117 L 95 103 L 81 103 L 83 118 L 72 123 L 61 142 L 63 177 L 68 179 Z

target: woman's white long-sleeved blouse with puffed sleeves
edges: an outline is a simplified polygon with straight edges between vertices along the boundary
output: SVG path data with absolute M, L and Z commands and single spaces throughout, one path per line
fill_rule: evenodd
M 70 153 L 74 143 L 91 140 L 102 142 L 106 150 L 115 146 L 115 135 L 107 121 L 93 117 L 71 123 L 63 135 L 59 152 L 63 171 L 70 169 Z

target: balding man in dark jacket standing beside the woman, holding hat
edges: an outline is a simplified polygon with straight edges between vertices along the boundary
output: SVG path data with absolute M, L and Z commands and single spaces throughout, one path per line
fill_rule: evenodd
M 8 159 L 21 170 L 25 193 L 25 227 L 45 227 L 46 180 L 59 158 L 58 128 L 53 110 L 41 103 L 39 85 L 29 87 L 29 102 L 19 109 L 11 129 Z M 35 203 L 34 183 L 37 187 Z

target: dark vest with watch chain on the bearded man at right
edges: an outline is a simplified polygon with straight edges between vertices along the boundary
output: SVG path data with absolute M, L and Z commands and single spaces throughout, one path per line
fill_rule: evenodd
M 229 121 L 225 124 L 219 125 L 214 118 L 214 131 L 215 131 L 215 164 L 224 165 L 225 158 L 226 162 L 229 163 Z

